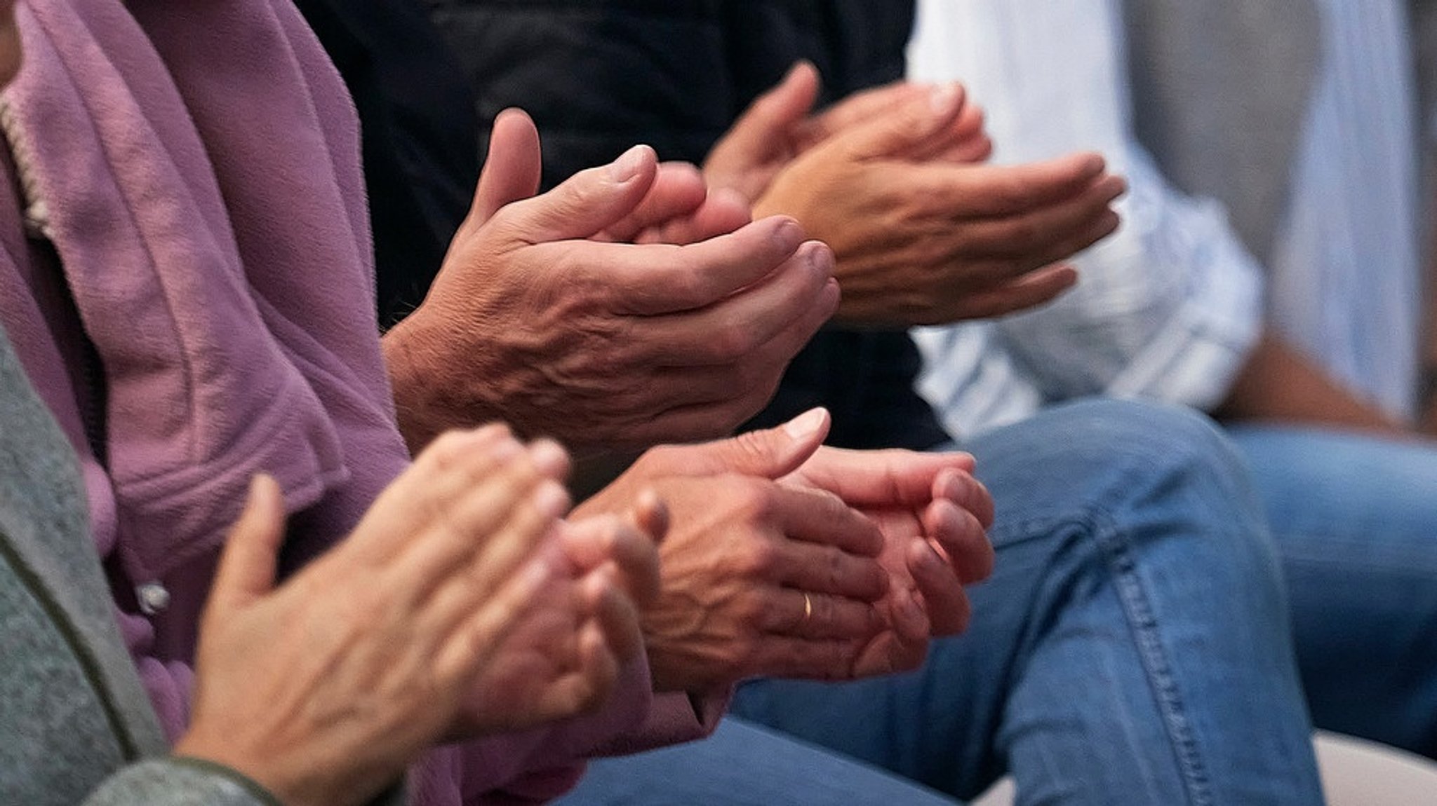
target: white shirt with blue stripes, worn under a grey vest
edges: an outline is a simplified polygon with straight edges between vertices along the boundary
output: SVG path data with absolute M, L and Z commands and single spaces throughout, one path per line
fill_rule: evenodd
M 1339 34 L 1345 26 L 1377 27 L 1394 37 L 1400 34 L 1401 43 L 1405 43 L 1405 29 L 1385 29 L 1368 19 L 1377 14 L 1377 7 L 1395 7 L 1397 1 L 1326 0 L 1325 4 L 1334 7 L 1358 9 L 1325 23 L 1329 33 Z M 1341 36 L 1328 39 L 1329 49 L 1345 42 Z M 1352 63 L 1326 60 L 1319 79 L 1322 86 L 1341 87 L 1342 77 L 1335 72 L 1345 76 L 1355 69 L 1354 63 L 1369 66 L 1388 56 L 1361 59 L 1364 49 L 1375 44 L 1362 42 L 1359 47 L 1352 47 L 1357 44 L 1348 42 L 1348 50 L 1355 50 L 1346 60 Z M 956 435 L 971 435 L 1026 417 L 1046 402 L 1099 393 L 1204 409 L 1219 403 L 1262 328 L 1263 272 L 1229 227 L 1224 209 L 1210 199 L 1186 196 L 1168 185 L 1135 142 L 1121 3 L 920 0 L 917 33 L 910 47 L 910 75 L 917 80 L 961 79 L 969 86 L 976 100 L 989 110 L 989 132 L 997 145 L 994 161 L 1026 162 L 1079 149 L 1101 151 L 1112 171 L 1128 176 L 1131 186 L 1118 205 L 1124 215 L 1122 227 L 1073 261 L 1082 278 L 1058 303 L 997 323 L 915 333 L 928 366 L 920 390 L 934 403 L 948 429 Z M 1408 95 L 1403 98 L 1410 98 L 1410 85 L 1397 82 L 1392 75 L 1384 77 L 1395 83 L 1394 93 L 1405 92 Z M 1368 89 L 1368 85 L 1359 86 Z M 1387 102 L 1392 98 L 1395 95 Z M 1382 106 L 1381 99 L 1369 100 Z M 1322 109 L 1322 105 L 1315 103 L 1313 108 Z M 1358 149 L 1358 145 L 1371 146 L 1372 141 L 1345 143 L 1322 133 L 1309 120 L 1305 151 L 1326 155 L 1378 151 L 1391 158 L 1394 166 L 1390 171 L 1400 169 L 1397 165 L 1401 163 L 1411 165 L 1415 182 L 1414 148 L 1404 159 L 1395 153 L 1395 146 Z M 1321 142 L 1313 145 L 1315 139 Z M 1390 174 L 1382 176 L 1385 181 Z M 1299 182 L 1293 198 L 1321 199 L 1329 192 Z M 1388 194 L 1401 198 L 1365 198 L 1358 209 L 1349 205 L 1348 209 L 1306 212 L 1326 217 L 1316 228 L 1319 232 L 1365 227 L 1372 217 L 1401 224 L 1404 219 L 1394 208 L 1410 212 L 1408 205 L 1415 204 L 1415 194 L 1408 199 L 1404 192 L 1394 189 Z M 1283 228 L 1283 244 L 1305 242 L 1292 221 Z M 1415 248 L 1415 227 L 1411 229 L 1407 241 Z M 1332 261 L 1309 265 L 1319 274 L 1351 271 L 1348 265 Z M 1372 283 L 1374 272 L 1365 274 Z M 1415 283 L 1415 257 L 1410 264 L 1401 262 L 1382 274 Z M 1392 284 L 1401 287 L 1403 283 L 1405 280 L 1394 280 Z M 1312 283 L 1302 294 L 1311 298 L 1323 294 L 1325 288 L 1325 284 Z M 1288 288 L 1283 291 L 1298 294 Z M 1334 297 L 1334 305 L 1339 307 L 1349 298 L 1351 294 Z M 1411 317 L 1404 320 L 1410 323 L 1404 333 L 1414 346 L 1415 294 L 1410 301 Z M 1276 321 L 1286 324 L 1283 317 L 1276 317 Z M 1404 327 L 1403 321 L 1388 321 L 1392 327 Z M 1325 327 L 1316 330 L 1331 334 Z M 1384 340 L 1371 338 L 1368 331 L 1355 330 L 1346 336 L 1369 351 L 1390 349 L 1382 344 Z M 1300 340 L 1299 344 L 1315 356 L 1326 356 L 1329 349 L 1313 349 Z M 1415 367 L 1415 354 L 1410 350 L 1382 363 Z M 1407 377 L 1410 396 L 1411 374 Z M 1374 386 L 1365 384 L 1377 394 Z M 1410 397 L 1405 404 L 1400 396 L 1382 400 L 1401 413 L 1411 406 Z

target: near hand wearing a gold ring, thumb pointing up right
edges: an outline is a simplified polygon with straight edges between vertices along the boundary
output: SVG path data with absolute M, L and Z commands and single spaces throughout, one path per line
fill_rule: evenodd
M 648 486 L 671 509 L 662 592 L 642 614 L 660 690 L 706 691 L 756 675 L 851 680 L 895 668 L 894 599 L 878 525 L 839 496 L 777 483 L 819 450 L 828 414 L 711 445 L 645 453 L 579 511 L 621 506 Z M 861 455 L 868 456 L 868 455 Z M 924 635 L 927 622 L 917 630 Z

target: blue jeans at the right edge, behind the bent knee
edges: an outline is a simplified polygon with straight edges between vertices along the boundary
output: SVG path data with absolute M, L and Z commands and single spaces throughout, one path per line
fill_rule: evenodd
M 1318 727 L 1437 757 L 1437 447 L 1233 427 Z

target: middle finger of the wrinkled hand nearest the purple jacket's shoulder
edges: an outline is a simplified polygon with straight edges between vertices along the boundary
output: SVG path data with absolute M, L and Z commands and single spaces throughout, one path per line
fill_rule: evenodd
M 733 364 L 776 338 L 819 300 L 833 252 L 809 241 L 769 277 L 708 307 L 644 321 L 647 360 L 658 366 Z

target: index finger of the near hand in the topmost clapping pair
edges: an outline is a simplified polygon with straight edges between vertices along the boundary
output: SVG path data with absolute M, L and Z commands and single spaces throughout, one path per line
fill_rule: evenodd
M 1098 153 L 1072 153 L 1023 165 L 927 163 L 910 181 L 918 198 L 954 217 L 1006 217 L 1068 201 L 1102 175 Z

